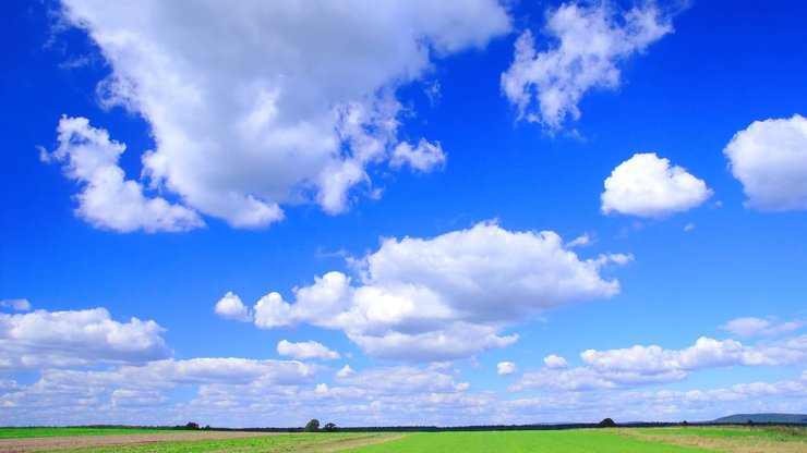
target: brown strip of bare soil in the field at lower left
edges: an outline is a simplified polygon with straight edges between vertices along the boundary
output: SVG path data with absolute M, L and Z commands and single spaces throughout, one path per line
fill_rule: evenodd
M 281 432 L 245 432 L 245 431 L 194 431 L 164 432 L 154 434 L 108 434 L 108 436 L 70 436 L 55 438 L 16 438 L 0 439 L 0 453 L 35 452 L 56 449 L 79 449 L 85 446 L 109 446 L 130 443 L 170 442 L 178 440 L 219 440 L 254 438 L 260 436 L 278 436 Z

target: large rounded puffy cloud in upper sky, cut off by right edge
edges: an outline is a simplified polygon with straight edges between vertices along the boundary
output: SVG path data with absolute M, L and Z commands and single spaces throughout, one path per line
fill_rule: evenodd
M 807 209 L 807 119 L 755 121 L 723 149 L 746 206 L 763 211 Z

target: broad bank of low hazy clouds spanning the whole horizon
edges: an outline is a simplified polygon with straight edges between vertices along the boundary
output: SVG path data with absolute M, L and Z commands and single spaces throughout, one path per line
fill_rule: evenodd
M 334 370 L 299 360 L 164 357 L 164 353 L 153 354 L 154 336 L 142 325 L 111 320 L 104 308 L 5 315 L 2 322 L 0 331 L 11 326 L 9 330 L 15 332 L 15 340 L 2 342 L 4 356 L 10 345 L 23 343 L 32 351 L 107 351 L 94 360 L 39 362 L 32 382 L 0 379 L 0 416 L 15 425 L 34 420 L 81 425 L 103 415 L 115 423 L 144 425 L 179 424 L 190 417 L 215 426 L 301 426 L 310 418 L 308 414 L 325 412 L 338 417 L 341 426 L 394 425 L 401 419 L 412 425 L 468 425 L 479 423 L 480 414 L 491 423 L 522 424 L 538 415 L 592 421 L 603 411 L 618 417 L 666 414 L 664 419 L 677 420 L 726 407 L 797 412 L 804 408 L 799 397 L 807 391 L 804 372 L 800 378 L 728 388 L 635 390 L 680 380 L 699 369 L 798 366 L 807 354 L 807 339 L 797 334 L 751 345 L 701 338 L 684 350 L 652 345 L 587 350 L 580 354 L 586 367 L 571 367 L 553 354 L 543 359 L 542 368 L 528 369 L 510 389 L 538 391 L 540 397 L 507 399 L 474 390 L 450 363 L 363 369 L 344 365 Z M 67 336 L 71 338 L 69 345 Z M 129 351 L 121 353 L 116 341 L 124 341 Z M 318 355 L 325 350 L 315 342 L 278 344 L 278 352 L 310 358 L 322 358 Z M 484 371 L 507 376 L 517 372 L 517 367 L 503 362 Z M 191 396 L 169 397 L 180 390 L 190 391 Z

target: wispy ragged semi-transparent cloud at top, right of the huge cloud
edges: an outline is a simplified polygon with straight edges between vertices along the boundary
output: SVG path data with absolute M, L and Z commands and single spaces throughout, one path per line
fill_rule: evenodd
M 573 2 L 549 12 L 544 32 L 555 41 L 542 52 L 531 32 L 518 38 L 502 89 L 518 107 L 519 119 L 553 130 L 569 115 L 579 119 L 586 91 L 618 87 L 619 63 L 673 29 L 651 1 L 627 12 L 616 8 L 607 1 L 591 7 Z

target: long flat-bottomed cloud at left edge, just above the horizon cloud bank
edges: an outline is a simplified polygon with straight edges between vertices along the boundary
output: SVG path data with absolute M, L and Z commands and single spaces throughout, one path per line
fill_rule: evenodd
M 112 320 L 105 308 L 0 314 L 0 372 L 165 358 L 164 331 L 154 321 Z

